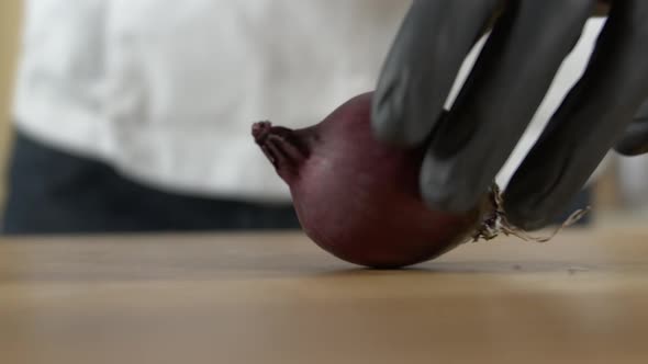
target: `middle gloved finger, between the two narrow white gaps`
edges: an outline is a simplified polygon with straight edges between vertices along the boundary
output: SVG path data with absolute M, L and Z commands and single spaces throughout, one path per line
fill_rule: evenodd
M 478 202 L 526 130 L 595 0 L 511 1 L 446 121 L 434 132 L 421 175 L 437 209 Z

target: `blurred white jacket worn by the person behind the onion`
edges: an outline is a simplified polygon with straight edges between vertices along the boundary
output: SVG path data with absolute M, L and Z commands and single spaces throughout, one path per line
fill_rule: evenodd
M 407 7 L 393 0 L 26 0 L 16 126 L 155 187 L 288 201 L 287 186 L 250 138 L 252 123 L 311 125 L 373 89 Z M 580 76 L 597 25 L 566 62 L 502 183 Z

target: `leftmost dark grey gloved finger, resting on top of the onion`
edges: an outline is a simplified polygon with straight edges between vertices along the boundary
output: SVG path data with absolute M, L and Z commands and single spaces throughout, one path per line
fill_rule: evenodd
M 463 59 L 500 0 L 415 0 L 382 67 L 372 127 L 384 141 L 427 139 Z

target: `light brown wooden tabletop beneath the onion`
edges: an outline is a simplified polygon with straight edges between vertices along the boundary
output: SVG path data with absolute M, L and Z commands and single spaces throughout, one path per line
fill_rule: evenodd
M 1 363 L 646 363 L 648 229 L 368 271 L 300 234 L 0 241 Z

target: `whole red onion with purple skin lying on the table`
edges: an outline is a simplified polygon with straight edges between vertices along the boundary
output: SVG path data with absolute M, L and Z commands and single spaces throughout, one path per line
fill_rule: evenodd
M 304 232 L 322 249 L 377 269 L 432 260 L 474 236 L 487 194 L 466 214 L 431 211 L 418 192 L 424 149 L 379 143 L 371 96 L 357 95 L 308 128 L 256 123 L 253 136 L 290 186 Z

